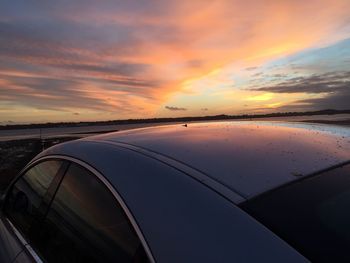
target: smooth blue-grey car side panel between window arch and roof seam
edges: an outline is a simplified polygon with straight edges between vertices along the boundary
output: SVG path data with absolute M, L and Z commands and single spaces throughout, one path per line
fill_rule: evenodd
M 233 205 L 244 201 L 242 197 L 217 191 L 224 187 L 214 189 L 208 179 L 198 182 L 193 171 L 188 173 L 191 169 L 179 168 L 176 161 L 97 138 L 58 144 L 36 161 L 52 158 L 75 162 L 103 178 L 118 202 L 124 203 L 139 237 L 157 262 L 224 262 L 232 258 L 237 262 L 306 262 Z M 180 231 L 174 226 L 180 226 Z M 249 253 L 252 248 L 254 253 Z

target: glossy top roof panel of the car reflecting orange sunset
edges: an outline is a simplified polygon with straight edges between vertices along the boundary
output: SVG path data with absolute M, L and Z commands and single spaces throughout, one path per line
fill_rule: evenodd
M 266 121 L 175 124 L 83 140 L 132 145 L 186 164 L 249 199 L 350 160 L 350 129 Z

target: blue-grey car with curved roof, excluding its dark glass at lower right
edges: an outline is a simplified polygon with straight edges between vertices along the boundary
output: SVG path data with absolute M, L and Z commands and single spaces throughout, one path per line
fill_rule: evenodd
M 39 154 L 9 186 L 0 260 L 314 261 L 313 252 L 304 254 L 298 240 L 289 240 L 288 233 L 284 238 L 284 226 L 269 220 L 281 216 L 274 210 L 278 205 L 281 211 L 289 207 L 285 217 L 302 207 L 313 196 L 309 189 L 319 186 L 311 183 L 306 199 L 291 188 L 349 170 L 349 138 L 348 128 L 336 126 L 225 121 L 59 144 Z M 292 196 L 299 203 L 284 201 Z

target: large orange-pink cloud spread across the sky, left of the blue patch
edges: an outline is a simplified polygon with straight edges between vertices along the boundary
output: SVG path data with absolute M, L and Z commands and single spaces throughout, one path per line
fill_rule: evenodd
M 28 107 L 33 120 L 45 110 L 68 112 L 57 118 L 70 120 L 84 112 L 91 118 L 168 114 L 176 110 L 161 105 L 181 92 L 198 92 L 194 83 L 215 79 L 215 72 L 233 63 L 268 82 L 261 73 L 264 62 L 349 37 L 349 9 L 347 0 L 5 0 L 0 3 L 0 106 Z M 342 85 L 327 81 L 332 83 L 295 79 L 258 88 L 323 93 Z M 200 82 L 202 90 L 211 87 L 210 81 Z M 198 100 L 193 108 L 210 105 L 211 112 L 222 113 L 215 108 L 226 99 L 214 105 Z M 79 116 L 72 114 L 78 110 Z

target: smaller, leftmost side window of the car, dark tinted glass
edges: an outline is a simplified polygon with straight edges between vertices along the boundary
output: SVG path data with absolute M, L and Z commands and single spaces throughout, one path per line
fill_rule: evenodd
M 5 213 L 27 238 L 31 226 L 42 216 L 41 201 L 61 164 L 61 161 L 50 160 L 35 165 L 14 183 L 8 194 Z

